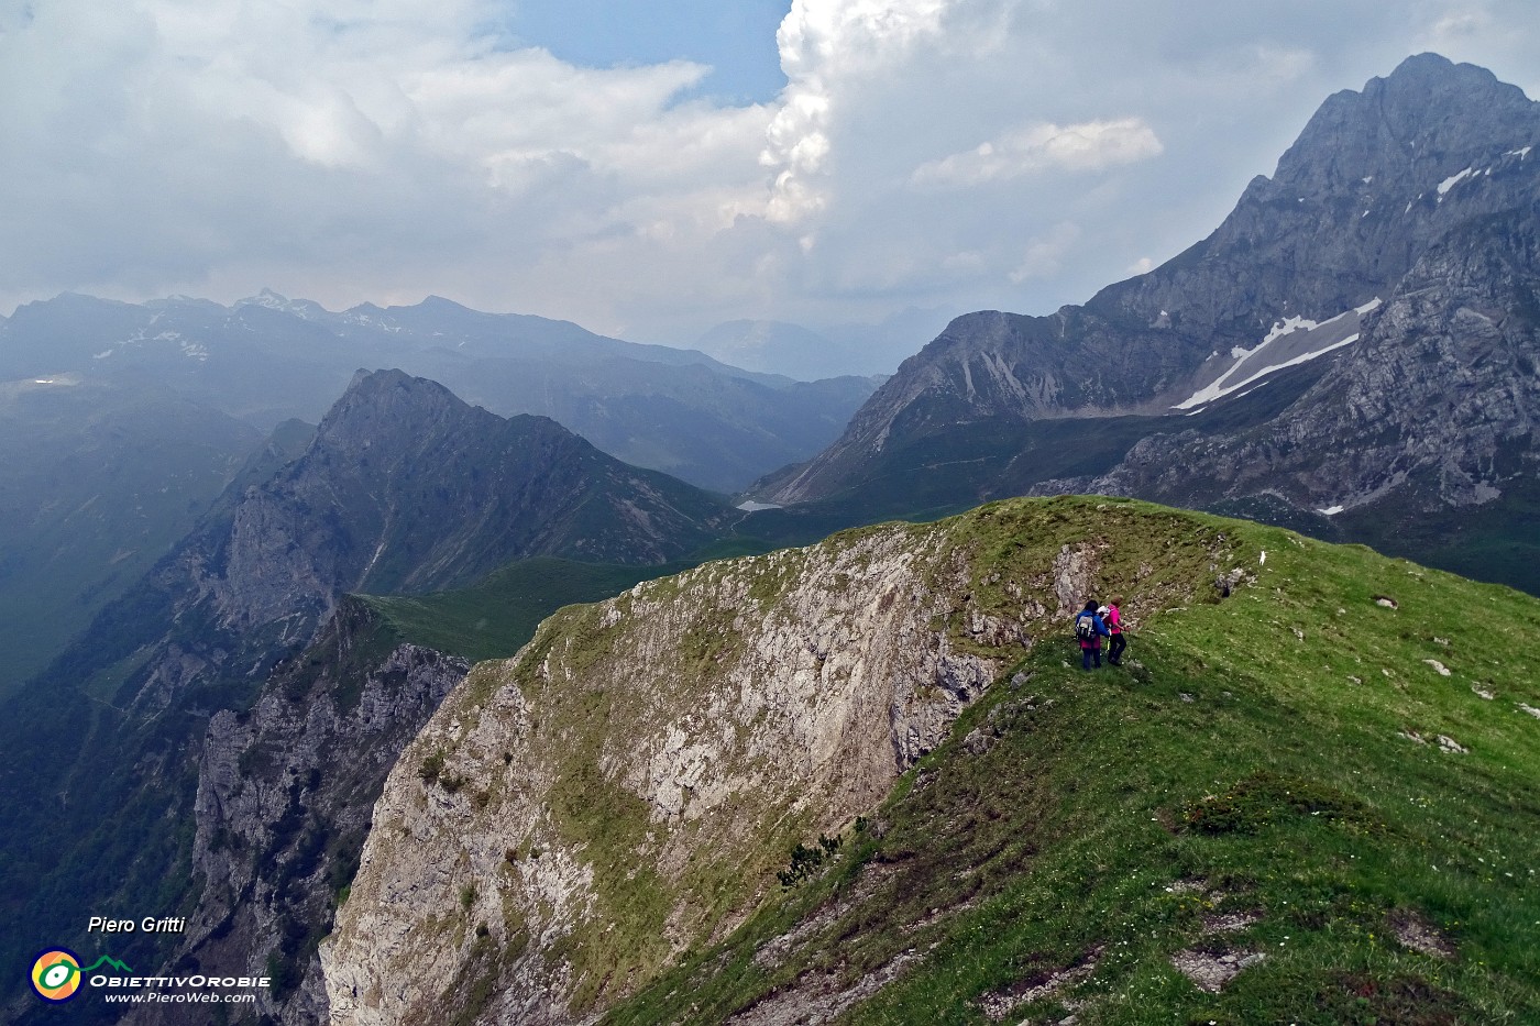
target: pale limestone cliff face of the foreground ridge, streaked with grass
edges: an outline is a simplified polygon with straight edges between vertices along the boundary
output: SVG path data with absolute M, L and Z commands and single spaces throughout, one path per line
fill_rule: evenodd
M 1149 535 L 1132 507 L 1090 538 L 1036 508 L 705 564 L 479 664 L 374 810 L 322 946 L 333 1021 L 585 1021 L 736 927 L 1029 645 L 1069 652 L 1098 588 L 1138 621 L 1235 559 L 1178 525 L 1150 565 L 1116 552 Z

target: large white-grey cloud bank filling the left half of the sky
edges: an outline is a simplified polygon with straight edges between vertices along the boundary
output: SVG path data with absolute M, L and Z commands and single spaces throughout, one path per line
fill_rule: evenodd
M 767 108 L 684 99 L 707 71 L 688 62 L 593 69 L 504 49 L 482 29 L 493 11 L 0 8 L 0 188 L 15 210 L 0 279 L 136 293 L 249 276 L 236 294 L 283 283 L 357 302 L 465 291 L 456 280 L 496 257 L 508 290 L 542 248 L 699 242 L 762 211 Z

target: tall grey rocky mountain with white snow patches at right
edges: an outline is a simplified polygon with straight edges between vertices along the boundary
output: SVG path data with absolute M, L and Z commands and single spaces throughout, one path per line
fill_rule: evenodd
M 1411 57 L 1329 97 L 1203 242 L 1083 307 L 958 317 L 839 441 L 750 495 L 849 501 L 921 478 L 959 505 L 1104 490 L 1394 545 L 1388 498 L 1415 485 L 1421 513 L 1508 496 L 1529 524 L 1537 149 L 1540 103 L 1481 68 Z M 1015 436 L 1067 436 L 1084 456 L 1043 459 Z M 1489 533 L 1520 548 L 1454 565 L 1517 581 L 1523 528 Z

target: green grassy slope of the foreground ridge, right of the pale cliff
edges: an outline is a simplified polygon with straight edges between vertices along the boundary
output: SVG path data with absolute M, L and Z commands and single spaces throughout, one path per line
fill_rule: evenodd
M 1049 533 L 1023 535 L 1032 507 L 1118 531 L 1109 590 L 1141 547 L 1221 542 L 1215 572 L 1255 581 L 1137 609 L 1123 669 L 1041 639 L 821 877 L 605 1021 L 805 1012 L 862 981 L 835 1021 L 1540 1021 L 1540 602 L 1093 501 L 967 518 L 981 593 Z M 1215 992 L 1177 969 L 1258 954 Z

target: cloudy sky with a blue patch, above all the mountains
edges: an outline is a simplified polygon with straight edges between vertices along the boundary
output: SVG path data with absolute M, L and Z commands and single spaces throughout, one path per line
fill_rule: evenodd
M 0 311 L 1049 313 L 1428 49 L 1540 97 L 1532 0 L 0 0 Z

